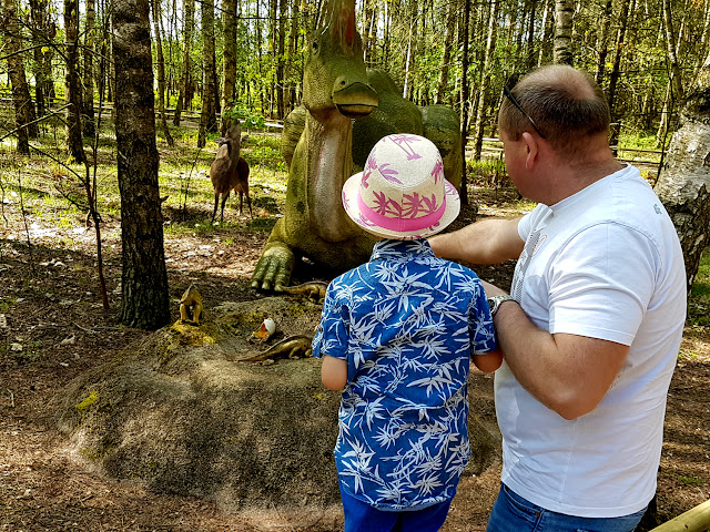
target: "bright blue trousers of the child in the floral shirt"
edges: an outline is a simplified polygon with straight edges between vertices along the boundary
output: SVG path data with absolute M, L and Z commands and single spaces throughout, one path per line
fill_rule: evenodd
M 385 512 L 343 490 L 345 532 L 436 532 L 446 521 L 452 500 L 422 510 Z

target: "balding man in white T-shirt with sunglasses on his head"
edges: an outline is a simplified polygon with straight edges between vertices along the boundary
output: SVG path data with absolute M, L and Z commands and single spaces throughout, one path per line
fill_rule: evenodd
M 430 238 L 445 258 L 518 258 L 511 296 L 486 284 L 505 354 L 488 530 L 631 531 L 656 491 L 686 317 L 680 244 L 639 171 L 613 158 L 589 75 L 545 66 L 505 94 L 506 167 L 538 205 Z

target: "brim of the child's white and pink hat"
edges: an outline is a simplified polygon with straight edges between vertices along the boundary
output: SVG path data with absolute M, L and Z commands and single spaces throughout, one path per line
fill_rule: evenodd
M 448 181 L 444 180 L 444 190 L 446 192 L 446 208 L 439 221 L 429 227 L 417 231 L 393 231 L 378 226 L 369 221 L 359 209 L 357 195 L 359 194 L 359 183 L 363 172 L 352 175 L 343 185 L 343 207 L 345 212 L 359 227 L 379 238 L 393 238 L 397 241 L 413 241 L 416 238 L 426 238 L 444 231 L 452 222 L 456 219 L 462 209 L 462 202 L 456 187 Z

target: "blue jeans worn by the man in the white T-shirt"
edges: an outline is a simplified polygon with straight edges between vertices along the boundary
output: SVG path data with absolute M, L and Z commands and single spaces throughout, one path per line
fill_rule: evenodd
M 576 518 L 537 507 L 500 484 L 486 532 L 632 532 L 646 509 L 620 518 Z

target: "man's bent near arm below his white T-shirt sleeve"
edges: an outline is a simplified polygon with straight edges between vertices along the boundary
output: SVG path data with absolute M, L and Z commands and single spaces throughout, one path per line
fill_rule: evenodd
M 487 296 L 505 294 L 484 282 Z M 520 385 L 565 419 L 592 411 L 616 379 L 629 347 L 577 335 L 550 335 L 515 301 L 504 301 L 494 325 L 505 360 Z

